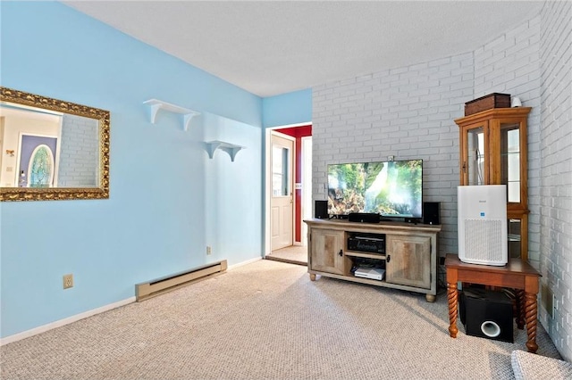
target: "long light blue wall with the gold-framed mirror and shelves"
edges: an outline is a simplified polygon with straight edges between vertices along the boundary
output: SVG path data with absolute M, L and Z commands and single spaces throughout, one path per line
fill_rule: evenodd
M 0 336 L 128 299 L 142 281 L 261 256 L 259 97 L 63 4 L 0 12 L 2 86 L 111 112 L 110 199 L 0 203 Z M 188 132 L 164 112 L 153 125 L 150 98 L 203 115 Z M 210 160 L 213 135 L 247 149 Z

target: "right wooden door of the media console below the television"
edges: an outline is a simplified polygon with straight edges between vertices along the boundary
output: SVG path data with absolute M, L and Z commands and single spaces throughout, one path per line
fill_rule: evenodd
M 387 236 L 386 281 L 431 289 L 431 237 Z

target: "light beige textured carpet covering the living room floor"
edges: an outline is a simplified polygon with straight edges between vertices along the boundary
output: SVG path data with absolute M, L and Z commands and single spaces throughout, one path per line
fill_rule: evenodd
M 0 348 L 3 379 L 514 378 L 515 343 L 448 333 L 447 297 L 258 260 Z M 542 326 L 539 355 L 559 358 Z

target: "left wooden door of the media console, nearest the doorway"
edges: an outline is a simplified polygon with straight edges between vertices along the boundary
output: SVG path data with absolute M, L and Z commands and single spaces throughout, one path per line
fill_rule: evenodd
M 311 235 L 310 269 L 336 275 L 347 275 L 346 264 L 349 258 L 343 252 L 343 231 L 312 228 Z

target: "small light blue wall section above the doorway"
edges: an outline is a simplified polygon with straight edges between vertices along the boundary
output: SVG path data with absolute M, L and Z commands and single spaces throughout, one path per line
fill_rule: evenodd
M 262 100 L 262 125 L 282 127 L 312 121 L 312 89 L 265 97 Z

